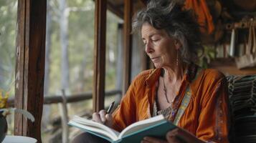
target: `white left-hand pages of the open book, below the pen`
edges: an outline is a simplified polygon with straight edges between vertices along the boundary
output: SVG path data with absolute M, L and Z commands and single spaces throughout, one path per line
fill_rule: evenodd
M 76 123 L 81 124 L 81 125 L 84 125 L 86 128 L 101 129 L 105 132 L 108 132 L 108 134 L 111 134 L 112 137 L 117 138 L 118 135 L 120 134 L 119 132 L 115 131 L 114 129 L 111 129 L 110 127 L 107 127 L 104 124 L 100 124 L 98 122 L 93 122 L 90 119 L 85 119 L 85 118 L 82 118 L 82 117 L 75 116 L 74 119 L 72 119 L 71 121 L 76 122 Z

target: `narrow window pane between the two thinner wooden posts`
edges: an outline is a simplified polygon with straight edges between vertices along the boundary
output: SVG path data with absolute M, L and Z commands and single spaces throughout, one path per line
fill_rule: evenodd
M 106 60 L 105 60 L 105 91 L 120 90 L 119 82 L 117 80 L 122 80 L 123 76 L 118 78 L 118 60 L 123 61 L 123 56 L 118 56 L 118 50 L 123 48 L 123 45 L 119 46 L 118 36 L 118 23 L 122 19 L 113 14 L 111 11 L 107 11 L 107 31 L 106 31 Z M 119 59 L 118 59 L 119 58 Z M 122 63 L 122 62 L 121 62 Z M 121 71 L 122 72 L 122 71 Z M 121 74 L 123 75 L 123 74 Z M 113 101 L 118 102 L 118 94 L 112 95 L 110 97 L 105 97 L 105 107 L 108 107 Z

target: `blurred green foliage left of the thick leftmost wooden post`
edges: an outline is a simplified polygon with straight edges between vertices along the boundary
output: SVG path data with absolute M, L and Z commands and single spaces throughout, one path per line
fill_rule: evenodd
M 14 90 L 17 0 L 0 0 L 0 88 Z

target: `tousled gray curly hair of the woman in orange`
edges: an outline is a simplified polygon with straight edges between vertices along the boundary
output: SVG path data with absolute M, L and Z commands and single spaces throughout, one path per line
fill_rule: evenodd
M 141 35 L 141 28 L 146 22 L 155 29 L 164 29 L 169 36 L 181 42 L 179 51 L 185 62 L 198 59 L 197 52 L 203 48 L 199 24 L 192 11 L 182 9 L 177 1 L 151 0 L 133 17 L 132 33 Z

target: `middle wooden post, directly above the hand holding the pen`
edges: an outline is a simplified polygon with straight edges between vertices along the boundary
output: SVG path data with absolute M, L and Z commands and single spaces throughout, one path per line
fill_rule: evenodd
M 104 109 L 107 0 L 95 0 L 93 111 Z

